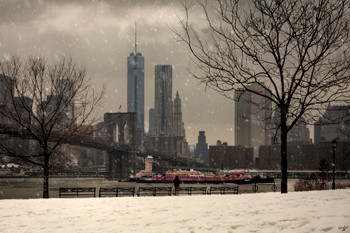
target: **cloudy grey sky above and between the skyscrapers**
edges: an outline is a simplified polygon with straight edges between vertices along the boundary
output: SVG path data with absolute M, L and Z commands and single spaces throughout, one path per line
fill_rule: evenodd
M 177 44 L 169 26 L 182 12 L 174 0 L 0 0 L 0 56 L 45 55 L 50 61 L 71 56 L 86 66 L 96 88 L 107 87 L 105 112 L 126 111 L 126 59 L 134 50 L 145 57 L 145 127 L 154 105 L 154 66 L 170 64 L 173 96 L 179 91 L 189 144 L 206 131 L 209 145 L 234 143 L 234 103 L 190 77 L 189 53 Z M 201 14 L 194 15 L 200 27 Z

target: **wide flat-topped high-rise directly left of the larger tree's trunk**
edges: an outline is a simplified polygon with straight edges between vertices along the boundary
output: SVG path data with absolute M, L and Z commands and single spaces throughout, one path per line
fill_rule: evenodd
M 249 87 L 256 93 L 268 95 L 259 84 Z M 239 90 L 235 93 L 235 145 L 253 147 L 254 156 L 258 156 L 259 146 L 271 144 L 272 103 L 260 95 Z

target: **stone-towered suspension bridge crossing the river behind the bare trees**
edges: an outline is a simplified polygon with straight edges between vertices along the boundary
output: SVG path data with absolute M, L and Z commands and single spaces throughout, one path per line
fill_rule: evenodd
M 136 143 L 135 121 L 136 113 L 106 113 L 104 122 L 91 127 L 88 135 L 65 144 L 104 151 L 107 156 L 102 168 L 103 174 L 110 179 L 124 179 L 134 175 L 138 170 L 144 168 L 147 156 L 153 156 L 160 169 L 205 167 L 203 163 L 192 161 L 188 157 L 179 155 L 176 151 L 170 154 L 155 147 L 142 146 L 140 148 Z M 0 135 L 10 135 L 22 140 L 30 140 L 31 137 L 13 125 L 2 126 Z M 146 144 L 147 135 L 144 134 L 143 137 Z M 50 140 L 57 139 L 53 135 Z M 104 156 L 104 154 L 99 153 L 98 156 Z

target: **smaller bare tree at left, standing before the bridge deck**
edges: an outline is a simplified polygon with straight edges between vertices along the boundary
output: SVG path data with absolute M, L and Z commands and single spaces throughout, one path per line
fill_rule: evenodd
M 94 91 L 85 68 L 72 59 L 50 65 L 43 57 L 0 62 L 0 141 L 2 155 L 38 166 L 43 171 L 43 198 L 49 198 L 49 172 L 66 164 L 62 146 L 91 133 L 94 110 L 104 94 Z M 7 136 L 6 136 L 7 135 Z M 11 140 L 34 142 L 18 150 Z

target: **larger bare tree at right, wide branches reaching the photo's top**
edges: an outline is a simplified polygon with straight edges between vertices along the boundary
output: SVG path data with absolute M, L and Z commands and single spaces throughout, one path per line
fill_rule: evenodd
M 182 5 L 180 29 L 172 30 L 191 52 L 193 76 L 228 98 L 243 89 L 273 103 L 280 118 L 281 192 L 287 193 L 288 132 L 302 116 L 313 119 L 328 104 L 349 101 L 349 1 L 199 0 Z M 190 19 L 198 7 L 205 28 Z

